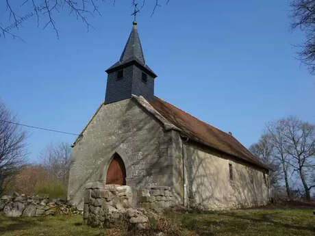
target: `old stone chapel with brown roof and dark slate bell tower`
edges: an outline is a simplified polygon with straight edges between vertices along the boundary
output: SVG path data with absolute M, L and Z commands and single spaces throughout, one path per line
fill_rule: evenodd
M 105 71 L 105 101 L 72 146 L 68 200 L 79 209 L 92 181 L 129 185 L 134 205 L 146 186 L 169 187 L 184 207 L 269 202 L 268 166 L 231 133 L 155 96 L 157 75 L 144 60 L 136 21 L 120 59 Z

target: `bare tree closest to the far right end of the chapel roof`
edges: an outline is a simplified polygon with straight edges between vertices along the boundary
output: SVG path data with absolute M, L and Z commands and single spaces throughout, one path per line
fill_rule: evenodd
M 279 159 L 275 157 L 275 146 L 273 144 L 273 137 L 269 133 L 264 133 L 256 144 L 252 144 L 249 150 L 253 155 L 258 157 L 266 166 L 272 169 L 269 173 L 270 186 L 277 188 L 279 186 L 280 163 Z

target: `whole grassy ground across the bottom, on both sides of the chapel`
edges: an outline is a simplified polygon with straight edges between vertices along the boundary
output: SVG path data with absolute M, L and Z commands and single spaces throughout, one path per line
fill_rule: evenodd
M 154 235 L 315 235 L 315 202 L 289 202 L 257 209 L 212 211 L 204 213 L 166 213 L 164 222 L 151 222 Z M 153 233 L 154 232 L 154 233 Z M 107 236 L 141 235 L 123 229 L 99 229 L 82 225 L 81 215 L 47 218 L 6 218 L 0 215 L 0 235 L 5 236 Z

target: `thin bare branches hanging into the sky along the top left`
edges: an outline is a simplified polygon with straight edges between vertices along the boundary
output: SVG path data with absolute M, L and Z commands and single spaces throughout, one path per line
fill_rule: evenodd
M 151 16 L 161 7 L 162 0 L 148 1 L 153 5 Z M 169 0 L 164 0 L 168 3 Z M 21 27 L 23 22 L 28 18 L 36 17 L 37 26 L 40 26 L 40 21 L 43 20 L 43 29 L 51 27 L 57 38 L 59 38 L 58 26 L 55 21 L 56 15 L 62 12 L 68 12 L 70 15 L 75 16 L 78 21 L 84 23 L 87 29 L 90 28 L 89 18 L 91 16 L 101 16 L 100 7 L 105 0 L 23 0 L 13 1 L 4 0 L 0 2 L 0 8 L 6 8 L 8 12 L 8 19 L 11 23 L 8 26 L 4 26 L 0 23 L 0 37 L 12 36 L 13 38 L 19 38 L 16 34 L 12 33 L 12 29 Z M 112 0 L 112 4 L 115 4 L 116 0 Z M 145 0 L 129 0 L 132 11 L 134 14 L 142 10 L 144 5 L 147 4 Z M 139 6 L 139 7 L 138 7 Z

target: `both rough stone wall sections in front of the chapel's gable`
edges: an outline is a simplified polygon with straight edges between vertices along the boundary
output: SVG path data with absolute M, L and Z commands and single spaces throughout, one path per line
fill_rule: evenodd
M 149 209 L 171 207 L 173 192 L 170 187 L 154 186 L 138 190 L 133 196 L 127 185 L 105 185 L 92 182 L 84 192 L 84 223 L 94 227 L 110 227 L 127 224 L 136 228 L 146 228 Z M 134 198 L 138 198 L 142 208 L 132 208 Z M 146 209 L 147 208 L 147 209 Z

